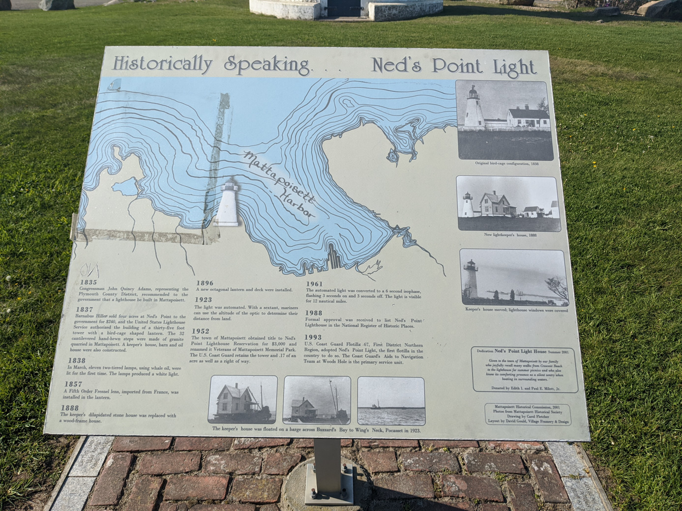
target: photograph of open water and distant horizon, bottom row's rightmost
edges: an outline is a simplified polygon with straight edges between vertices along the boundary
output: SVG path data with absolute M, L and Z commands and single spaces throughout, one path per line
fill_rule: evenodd
M 424 378 L 357 379 L 357 423 L 368 426 L 424 426 Z

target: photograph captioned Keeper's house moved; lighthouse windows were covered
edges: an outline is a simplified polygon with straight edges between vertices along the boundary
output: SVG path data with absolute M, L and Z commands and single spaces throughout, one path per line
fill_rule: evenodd
M 561 250 L 462 249 L 462 303 L 494 307 L 567 307 Z

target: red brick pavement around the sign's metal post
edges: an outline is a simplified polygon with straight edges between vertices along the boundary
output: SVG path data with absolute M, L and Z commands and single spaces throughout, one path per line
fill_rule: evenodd
M 314 457 L 310 439 L 118 437 L 86 511 L 280 511 L 282 484 Z M 368 511 L 569 511 L 546 444 L 342 441 L 364 467 Z

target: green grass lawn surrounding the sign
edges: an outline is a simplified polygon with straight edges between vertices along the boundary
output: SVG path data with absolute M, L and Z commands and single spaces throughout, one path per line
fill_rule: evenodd
M 68 455 L 42 422 L 104 46 L 173 44 L 549 50 L 586 447 L 617 507 L 682 510 L 682 23 L 445 3 L 379 24 L 246 0 L 0 12 L 0 509 L 50 489 Z

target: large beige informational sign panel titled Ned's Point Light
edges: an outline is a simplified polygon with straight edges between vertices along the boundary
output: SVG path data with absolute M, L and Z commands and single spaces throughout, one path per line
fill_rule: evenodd
M 589 439 L 548 55 L 108 47 L 46 433 Z

